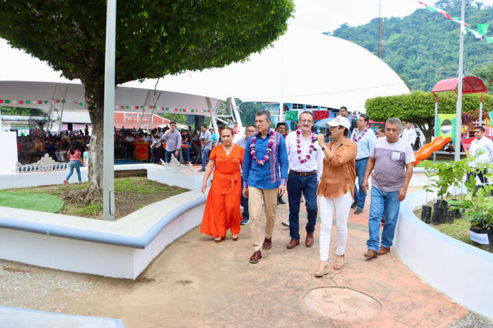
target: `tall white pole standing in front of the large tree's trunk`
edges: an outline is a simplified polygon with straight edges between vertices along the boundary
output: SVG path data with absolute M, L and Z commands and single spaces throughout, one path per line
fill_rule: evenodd
M 106 4 L 105 94 L 103 131 L 103 219 L 114 221 L 114 89 L 116 0 Z

